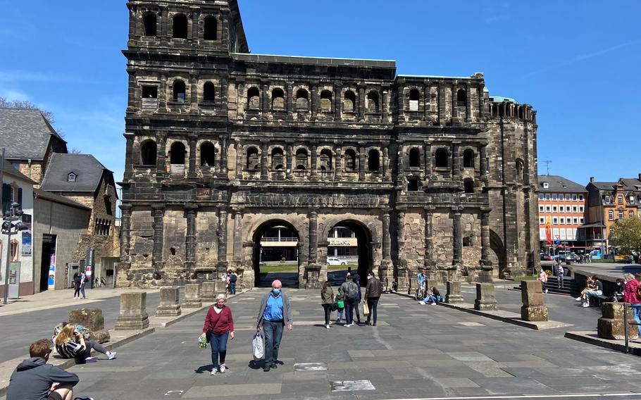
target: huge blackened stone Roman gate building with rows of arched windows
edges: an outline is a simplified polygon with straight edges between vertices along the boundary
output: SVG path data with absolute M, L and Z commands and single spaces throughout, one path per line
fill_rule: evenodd
M 394 61 L 250 54 L 235 0 L 130 1 L 118 286 L 252 287 L 287 227 L 299 287 L 348 227 L 359 272 L 409 289 L 538 263 L 536 112 L 483 74 Z M 268 29 L 268 27 L 266 27 Z

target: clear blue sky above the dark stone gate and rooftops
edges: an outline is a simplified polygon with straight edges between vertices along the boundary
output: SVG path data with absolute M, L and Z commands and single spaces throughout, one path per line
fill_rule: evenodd
M 70 148 L 123 175 L 125 0 L 0 0 L 0 96 L 56 115 Z M 378 58 L 399 74 L 485 74 L 538 111 L 539 173 L 641 173 L 641 2 L 239 0 L 258 54 Z

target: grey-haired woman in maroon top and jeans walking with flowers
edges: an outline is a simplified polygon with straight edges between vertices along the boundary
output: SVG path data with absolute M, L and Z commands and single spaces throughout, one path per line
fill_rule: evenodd
M 234 339 L 234 319 L 232 311 L 225 306 L 225 295 L 218 294 L 216 304 L 209 308 L 205 317 L 205 326 L 203 333 L 200 335 L 204 339 L 209 334 L 209 344 L 211 345 L 211 375 L 216 375 L 218 371 L 225 373 L 225 356 L 227 355 L 227 339 Z M 218 364 L 220 357 L 220 365 Z

